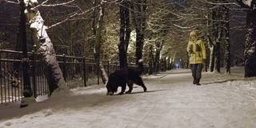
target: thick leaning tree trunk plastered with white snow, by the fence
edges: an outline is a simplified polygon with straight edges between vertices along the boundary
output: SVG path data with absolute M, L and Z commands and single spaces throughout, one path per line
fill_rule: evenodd
M 26 20 L 30 25 L 34 42 L 36 42 L 35 44 L 38 46 L 38 53 L 42 56 L 50 95 L 53 94 L 53 92 L 59 92 L 57 90 L 68 90 L 62 75 L 62 70 L 58 66 L 54 46 L 46 32 L 47 26 L 43 25 L 44 20 L 38 8 L 33 9 L 33 7 L 38 5 L 38 1 L 27 0 L 25 1 L 25 5 Z

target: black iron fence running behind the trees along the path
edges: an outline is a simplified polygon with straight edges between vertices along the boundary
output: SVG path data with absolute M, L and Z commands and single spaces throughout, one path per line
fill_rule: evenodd
M 29 65 L 28 76 L 34 97 L 49 93 L 48 84 L 44 75 L 42 59 L 34 52 L 28 53 L 28 58 L 22 58 L 21 51 L 0 50 L 0 102 L 17 102 L 23 94 L 23 68 L 22 64 L 26 61 Z M 99 84 L 100 71 L 94 58 L 82 58 L 57 55 L 59 66 L 62 69 L 63 77 L 69 89 L 78 86 L 88 86 Z M 114 70 L 119 69 L 118 62 L 103 60 L 106 73 L 110 75 Z M 129 64 L 130 68 L 136 68 L 135 64 Z M 148 73 L 149 67 L 144 66 L 144 74 Z

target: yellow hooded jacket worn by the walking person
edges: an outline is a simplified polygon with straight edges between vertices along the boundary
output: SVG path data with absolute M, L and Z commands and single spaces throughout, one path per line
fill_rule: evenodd
M 202 40 L 190 40 L 186 50 L 190 56 L 190 64 L 200 64 L 206 59 L 206 46 Z

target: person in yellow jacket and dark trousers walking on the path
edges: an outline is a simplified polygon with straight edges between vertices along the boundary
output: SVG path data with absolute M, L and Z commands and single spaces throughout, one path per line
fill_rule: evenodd
M 194 78 L 193 84 L 200 86 L 203 63 L 206 62 L 206 46 L 204 42 L 198 38 L 194 30 L 190 32 L 189 43 L 187 44 L 186 50 L 190 56 L 190 68 Z

